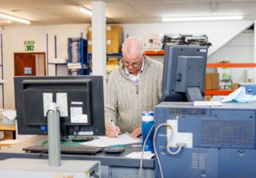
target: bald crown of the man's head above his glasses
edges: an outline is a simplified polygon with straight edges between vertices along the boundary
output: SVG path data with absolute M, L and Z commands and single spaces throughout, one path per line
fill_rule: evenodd
M 126 41 L 123 43 L 122 51 L 128 56 L 141 56 L 143 54 L 142 40 L 133 37 L 126 39 Z

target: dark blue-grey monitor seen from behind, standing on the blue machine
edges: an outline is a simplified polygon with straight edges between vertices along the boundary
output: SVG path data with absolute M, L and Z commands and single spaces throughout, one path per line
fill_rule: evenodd
M 207 50 L 207 46 L 166 44 L 161 101 L 203 100 Z

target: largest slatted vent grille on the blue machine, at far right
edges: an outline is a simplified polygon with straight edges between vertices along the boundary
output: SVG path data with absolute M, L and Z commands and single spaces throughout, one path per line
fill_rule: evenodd
M 203 145 L 254 146 L 253 121 L 202 121 Z

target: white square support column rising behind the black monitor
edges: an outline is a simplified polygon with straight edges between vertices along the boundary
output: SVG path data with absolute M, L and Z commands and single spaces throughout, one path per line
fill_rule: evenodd
M 92 2 L 92 75 L 103 76 L 106 90 L 106 4 Z

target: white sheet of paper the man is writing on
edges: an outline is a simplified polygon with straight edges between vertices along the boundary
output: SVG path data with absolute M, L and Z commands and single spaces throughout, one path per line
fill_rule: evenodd
M 99 139 L 101 139 L 103 142 L 106 142 L 109 145 L 127 145 L 140 142 L 140 140 L 133 138 L 132 136 L 127 134 L 119 135 L 117 138 L 99 136 Z

